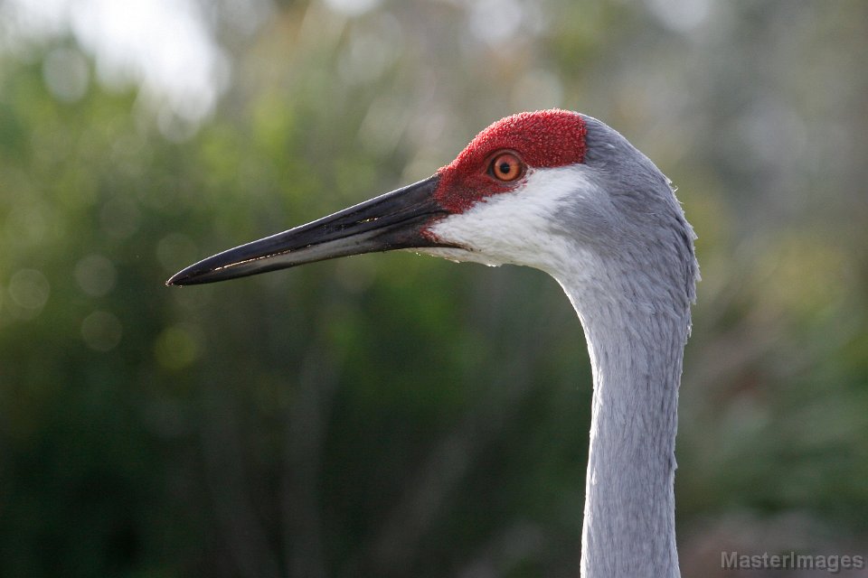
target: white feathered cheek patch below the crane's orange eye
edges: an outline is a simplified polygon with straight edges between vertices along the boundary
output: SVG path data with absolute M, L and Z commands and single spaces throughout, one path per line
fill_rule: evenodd
M 477 202 L 469 210 L 441 219 L 429 228 L 440 240 L 467 250 L 421 248 L 420 253 L 486 265 L 533 266 L 549 273 L 575 256 L 554 216 L 578 195 L 597 195 L 581 165 L 535 169 L 514 191 Z

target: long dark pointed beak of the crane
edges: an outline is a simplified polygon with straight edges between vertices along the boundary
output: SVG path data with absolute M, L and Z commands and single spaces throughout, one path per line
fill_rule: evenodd
M 414 247 L 443 247 L 422 235 L 448 214 L 434 199 L 439 176 L 387 192 L 307 225 L 210 256 L 166 281 L 191 285 L 258 275 L 338 256 Z

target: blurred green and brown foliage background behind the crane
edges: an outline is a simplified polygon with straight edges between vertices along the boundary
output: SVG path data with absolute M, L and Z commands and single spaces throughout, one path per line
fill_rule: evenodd
M 865 552 L 865 5 L 514 2 L 498 35 L 478 4 L 227 26 L 231 88 L 181 132 L 90 60 L 52 91 L 72 37 L 0 53 L 4 575 L 575 575 L 590 369 L 551 279 L 399 253 L 163 286 L 552 106 L 654 158 L 700 235 L 685 575 Z

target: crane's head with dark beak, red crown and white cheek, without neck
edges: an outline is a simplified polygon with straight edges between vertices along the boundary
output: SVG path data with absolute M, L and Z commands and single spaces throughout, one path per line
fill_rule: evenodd
M 577 248 L 605 251 L 631 235 L 635 219 L 621 214 L 630 203 L 617 207 L 611 193 L 632 190 L 631 180 L 645 188 L 643 179 L 665 190 L 657 196 L 669 205 L 666 212 L 681 214 L 665 177 L 608 126 L 564 110 L 522 113 L 488 126 L 428 179 L 208 257 L 166 284 L 212 283 L 393 249 L 554 275 Z M 632 212 L 642 219 L 646 209 Z M 692 238 L 688 243 L 692 256 Z

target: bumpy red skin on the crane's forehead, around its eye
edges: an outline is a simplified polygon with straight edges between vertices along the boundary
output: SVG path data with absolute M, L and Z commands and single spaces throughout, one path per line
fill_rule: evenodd
M 479 200 L 521 185 L 524 179 L 499 182 L 488 174 L 492 155 L 501 150 L 517 153 L 529 169 L 581 163 L 585 132 L 580 115 L 568 110 L 524 112 L 498 120 L 439 169 L 434 198 L 449 212 L 460 213 Z

